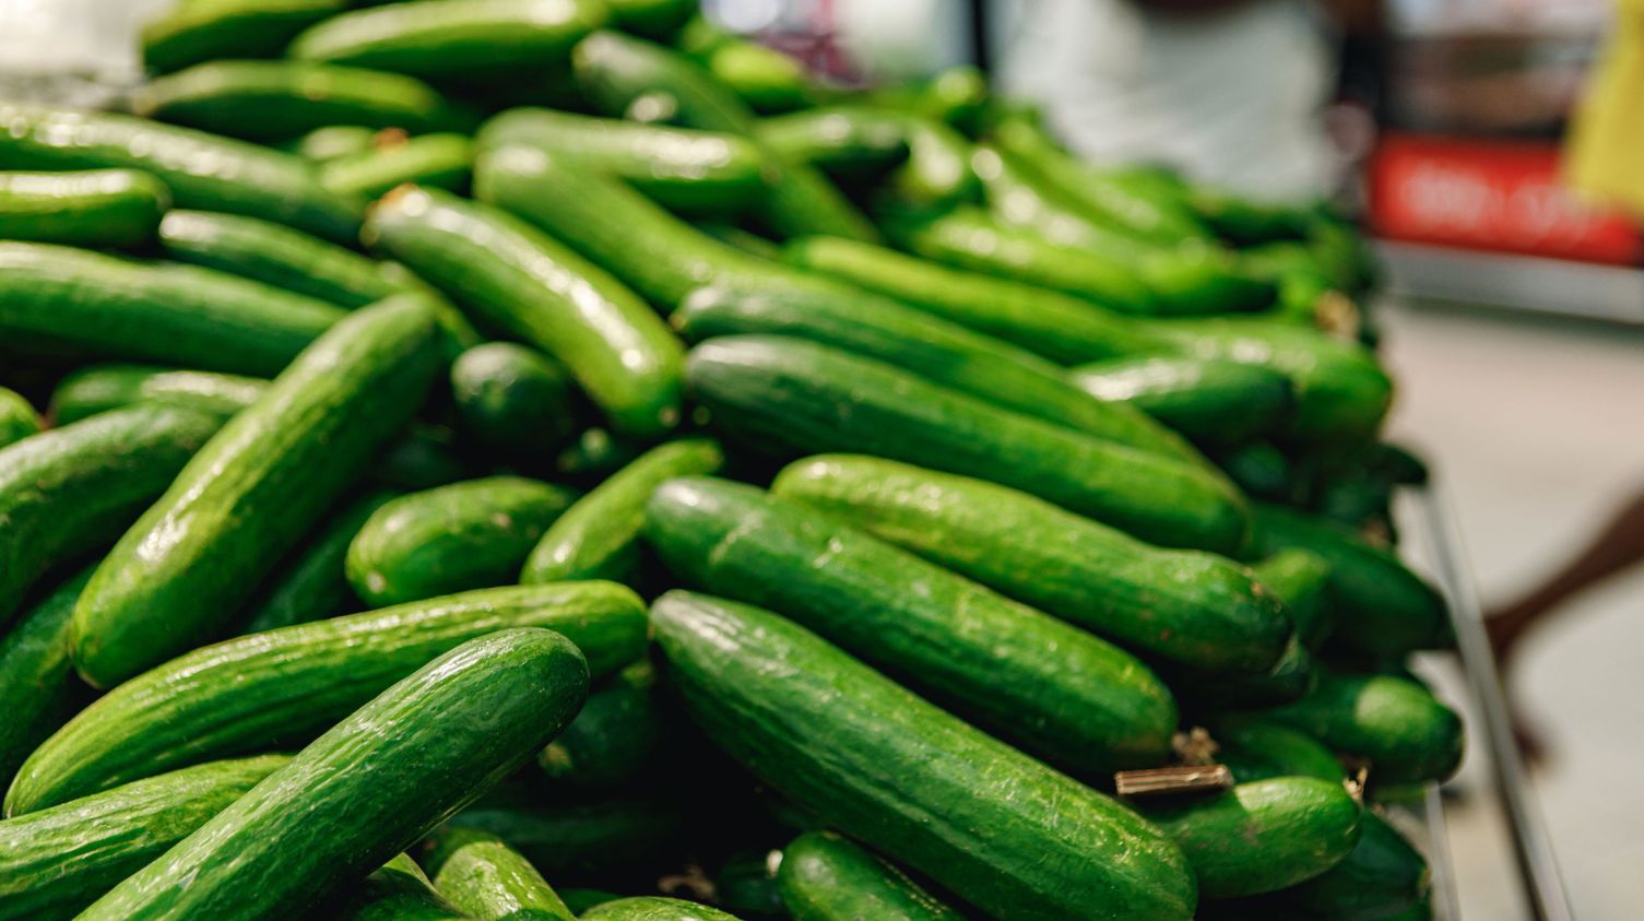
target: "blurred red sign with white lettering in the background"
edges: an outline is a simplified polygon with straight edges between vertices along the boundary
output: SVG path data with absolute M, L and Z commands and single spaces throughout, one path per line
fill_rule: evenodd
M 1636 265 L 1644 237 L 1560 183 L 1552 141 L 1388 135 L 1369 164 L 1371 229 L 1392 240 Z

